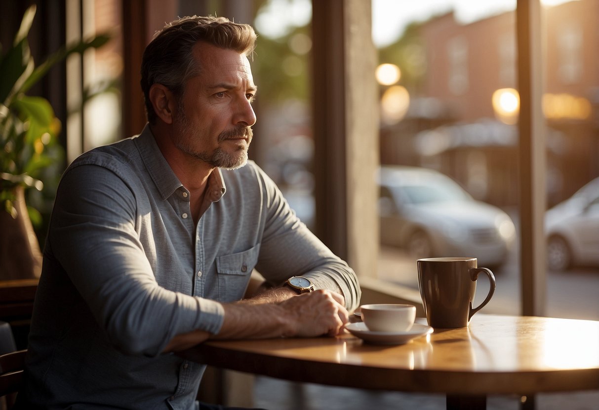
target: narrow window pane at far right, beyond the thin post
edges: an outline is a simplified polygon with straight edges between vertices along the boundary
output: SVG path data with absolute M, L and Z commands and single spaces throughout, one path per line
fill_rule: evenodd
M 543 10 L 547 314 L 599 319 L 599 3 Z

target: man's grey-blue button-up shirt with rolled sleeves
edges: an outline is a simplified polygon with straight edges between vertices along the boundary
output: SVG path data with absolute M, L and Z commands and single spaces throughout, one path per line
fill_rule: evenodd
M 214 202 L 195 225 L 189 191 L 149 127 L 69 166 L 44 249 L 21 399 L 71 409 L 195 408 L 205 366 L 161 352 L 179 333 L 217 333 L 220 303 L 242 298 L 254 268 L 273 283 L 310 277 L 357 307 L 355 273 L 256 164 L 214 170 L 207 189 Z

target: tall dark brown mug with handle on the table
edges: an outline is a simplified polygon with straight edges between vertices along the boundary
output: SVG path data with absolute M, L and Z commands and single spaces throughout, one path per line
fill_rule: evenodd
M 426 258 L 416 263 L 420 297 L 432 328 L 468 326 L 474 313 L 488 304 L 495 292 L 495 276 L 487 268 L 477 267 L 476 258 Z M 473 308 L 480 273 L 488 276 L 491 286 L 485 300 Z

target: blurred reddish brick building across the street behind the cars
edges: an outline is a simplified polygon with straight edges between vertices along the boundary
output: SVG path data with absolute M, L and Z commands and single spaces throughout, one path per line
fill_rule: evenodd
M 543 10 L 546 64 L 539 75 L 546 84 L 547 205 L 552 206 L 599 175 L 599 2 L 571 1 Z M 450 12 L 410 32 L 410 41 L 425 55 L 425 74 L 406 81 L 410 106 L 402 120 L 383 124 L 382 163 L 432 167 L 480 200 L 517 203 L 514 27 L 515 12 L 465 25 Z

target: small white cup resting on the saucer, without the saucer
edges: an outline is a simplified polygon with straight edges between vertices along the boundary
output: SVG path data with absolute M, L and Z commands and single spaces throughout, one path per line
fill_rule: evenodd
M 407 332 L 416 319 L 416 306 L 392 303 L 362 305 L 362 322 L 372 332 Z

